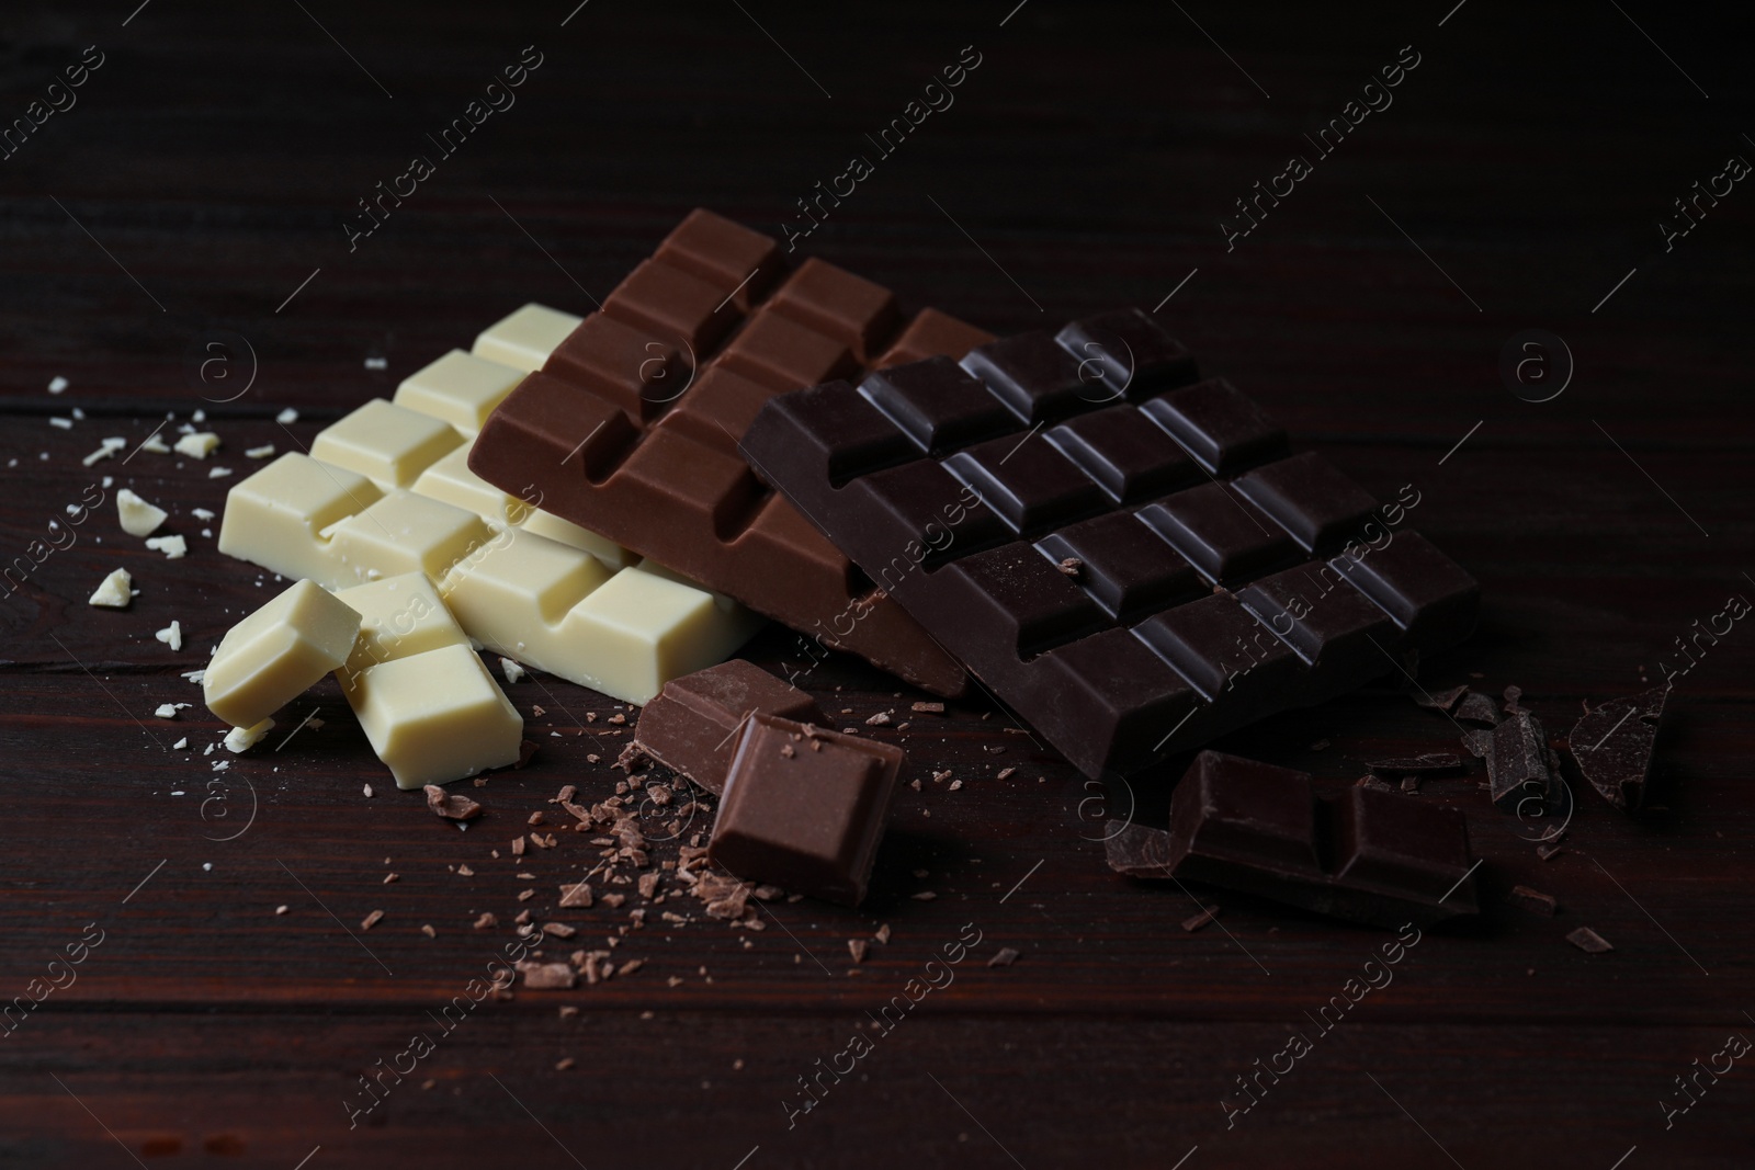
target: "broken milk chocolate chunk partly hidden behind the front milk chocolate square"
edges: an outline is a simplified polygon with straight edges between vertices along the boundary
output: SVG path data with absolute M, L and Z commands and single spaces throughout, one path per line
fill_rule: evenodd
M 828 721 L 809 695 L 734 658 L 665 682 L 641 709 L 634 746 L 709 793 L 723 793 L 744 721 L 758 714 L 793 723 Z

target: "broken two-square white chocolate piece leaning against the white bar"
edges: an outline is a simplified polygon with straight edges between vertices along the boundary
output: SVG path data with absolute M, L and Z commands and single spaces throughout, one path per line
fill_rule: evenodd
M 425 574 L 337 598 L 358 610 L 360 640 L 335 677 L 397 788 L 449 784 L 518 761 L 525 721 Z

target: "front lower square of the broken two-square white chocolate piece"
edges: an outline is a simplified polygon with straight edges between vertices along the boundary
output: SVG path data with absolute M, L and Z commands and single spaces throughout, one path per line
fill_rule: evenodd
M 377 663 L 344 689 L 397 788 L 449 784 L 518 761 L 525 721 L 469 646 Z

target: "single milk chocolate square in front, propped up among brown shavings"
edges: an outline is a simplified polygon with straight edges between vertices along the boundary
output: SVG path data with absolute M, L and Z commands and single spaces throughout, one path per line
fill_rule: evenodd
M 734 877 L 858 905 L 902 770 L 902 749 L 751 716 L 707 858 Z

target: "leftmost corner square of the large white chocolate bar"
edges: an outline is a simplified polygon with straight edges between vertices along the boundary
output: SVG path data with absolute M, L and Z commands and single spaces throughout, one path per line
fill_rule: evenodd
M 226 493 L 219 551 L 283 577 L 311 577 L 333 588 L 340 581 L 337 563 L 321 533 L 381 496 L 365 475 L 288 451 Z

